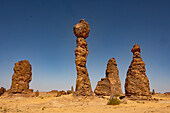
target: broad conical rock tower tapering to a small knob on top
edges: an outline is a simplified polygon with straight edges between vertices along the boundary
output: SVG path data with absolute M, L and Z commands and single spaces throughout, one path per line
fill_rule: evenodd
M 127 71 L 125 95 L 133 100 L 148 100 L 151 98 L 149 79 L 145 74 L 145 63 L 140 55 L 140 46 L 135 44 L 131 50 L 133 60 Z

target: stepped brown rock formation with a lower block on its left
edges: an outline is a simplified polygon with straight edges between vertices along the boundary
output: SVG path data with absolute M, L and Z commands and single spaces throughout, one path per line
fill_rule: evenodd
M 111 58 L 108 61 L 106 78 L 102 78 L 101 81 L 98 82 L 94 92 L 96 95 L 102 96 L 122 94 L 119 70 L 115 58 Z

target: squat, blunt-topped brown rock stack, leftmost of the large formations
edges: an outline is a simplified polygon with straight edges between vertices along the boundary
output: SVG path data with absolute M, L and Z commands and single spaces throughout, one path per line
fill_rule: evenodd
M 9 96 L 13 96 L 14 94 L 22 94 L 21 96 L 34 96 L 33 89 L 29 89 L 29 82 L 32 79 L 31 70 L 31 64 L 28 60 L 15 63 L 12 85 L 11 88 L 6 91 L 6 94 Z

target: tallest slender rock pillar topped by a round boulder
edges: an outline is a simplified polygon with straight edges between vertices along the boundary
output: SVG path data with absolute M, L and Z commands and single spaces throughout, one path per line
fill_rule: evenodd
M 86 58 L 88 55 L 88 47 L 86 38 L 89 35 L 90 27 L 84 19 L 81 19 L 78 24 L 73 28 L 73 32 L 77 37 L 76 43 L 77 48 L 75 49 L 76 55 L 76 69 L 77 69 L 77 80 L 76 80 L 76 96 L 91 96 L 93 95 L 89 75 L 86 68 Z

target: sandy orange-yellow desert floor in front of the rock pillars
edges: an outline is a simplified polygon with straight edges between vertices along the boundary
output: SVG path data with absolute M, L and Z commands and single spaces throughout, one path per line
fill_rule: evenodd
M 2 98 L 0 112 L 3 113 L 170 113 L 170 96 L 159 94 L 159 101 L 125 100 L 120 105 L 107 105 L 107 98 L 73 97 L 40 93 L 38 97 Z M 127 102 L 126 102 L 127 101 Z

